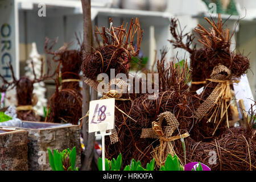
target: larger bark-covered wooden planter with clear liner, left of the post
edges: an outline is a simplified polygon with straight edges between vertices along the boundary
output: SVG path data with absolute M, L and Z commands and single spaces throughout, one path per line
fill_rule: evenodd
M 44 128 L 61 125 L 59 123 L 22 121 L 21 127 L 16 130 L 28 131 L 28 169 L 32 171 L 49 171 L 48 150 L 63 151 L 76 147 L 76 166 L 81 166 L 80 130 L 78 125 Z M 42 129 L 43 128 L 43 129 Z

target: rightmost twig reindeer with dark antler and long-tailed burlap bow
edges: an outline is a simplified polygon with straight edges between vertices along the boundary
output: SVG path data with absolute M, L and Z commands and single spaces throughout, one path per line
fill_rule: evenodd
M 232 93 L 230 88 L 249 68 L 249 58 L 240 53 L 230 51 L 231 38 L 234 35 L 228 28 L 224 28 L 221 15 L 218 21 L 213 18 L 205 18 L 210 24 L 209 30 L 198 24 L 194 29 L 199 36 L 198 41 L 202 48 L 190 48 L 192 35 L 184 34 L 177 28 L 177 19 L 171 19 L 171 34 L 174 39 L 170 40 L 175 48 L 183 48 L 191 55 L 192 86 L 191 91 L 204 86 L 203 92 L 197 96 L 195 102 L 199 102 L 195 118 L 200 122 L 197 135 L 198 139 L 212 138 L 220 134 L 220 130 L 229 127 L 231 118 L 230 101 Z M 183 43 L 183 39 L 187 39 Z M 226 122 L 224 122 L 226 121 Z M 200 130 L 200 132 L 199 132 Z

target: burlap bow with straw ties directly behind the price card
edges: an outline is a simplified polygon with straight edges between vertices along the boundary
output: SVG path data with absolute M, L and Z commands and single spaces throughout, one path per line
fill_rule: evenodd
M 85 80 L 85 83 L 88 84 L 89 86 L 91 86 L 94 90 L 98 90 L 98 82 L 97 81 L 94 81 L 90 78 L 87 78 Z M 115 85 L 118 86 L 118 89 L 117 90 L 111 90 L 111 85 Z M 109 91 L 108 93 L 103 93 L 103 96 L 102 98 L 100 98 L 100 100 L 102 99 L 108 99 L 108 98 L 115 98 L 115 100 L 118 100 L 118 101 L 129 101 L 131 100 L 130 98 L 121 98 L 122 97 L 122 94 L 123 92 L 125 92 L 125 90 L 127 89 L 127 82 L 125 82 L 124 80 L 122 80 L 121 78 L 114 78 L 112 80 L 110 80 L 110 83 L 109 83 Z M 117 106 L 115 106 L 119 111 L 121 111 L 123 114 L 127 115 L 125 112 L 123 112 L 121 109 L 119 109 Z M 85 117 L 88 117 L 89 115 L 89 111 L 86 113 L 86 115 L 82 118 L 85 118 Z M 129 117 L 129 115 L 127 115 L 127 117 Z M 81 119 L 82 119 L 81 118 Z M 131 117 L 129 117 L 130 119 L 133 119 Z M 80 119 L 80 120 L 81 120 Z M 82 126 L 82 122 L 80 124 L 80 127 Z M 117 143 L 118 142 L 118 135 L 117 135 L 117 131 L 114 129 L 112 131 L 112 134 L 110 135 L 110 142 L 111 144 L 114 144 L 114 143 Z

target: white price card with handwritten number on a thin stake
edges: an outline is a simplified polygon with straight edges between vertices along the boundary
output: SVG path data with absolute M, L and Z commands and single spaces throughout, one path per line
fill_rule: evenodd
M 114 129 L 114 111 L 114 98 L 90 101 L 89 133 L 101 131 L 102 126 L 105 126 L 106 130 Z

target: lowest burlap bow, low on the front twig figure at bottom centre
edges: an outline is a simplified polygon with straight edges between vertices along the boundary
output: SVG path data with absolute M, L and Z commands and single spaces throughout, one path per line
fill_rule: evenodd
M 167 122 L 167 126 L 162 126 L 164 119 Z M 159 167 L 166 162 L 168 154 L 175 155 L 174 144 L 171 142 L 181 137 L 189 137 L 188 133 L 172 136 L 179 125 L 180 123 L 177 121 L 175 115 L 170 111 L 166 111 L 158 115 L 157 121 L 152 122 L 151 129 L 142 129 L 141 138 L 159 139 L 160 145 L 152 152 L 156 164 Z

